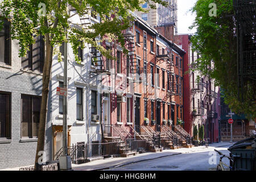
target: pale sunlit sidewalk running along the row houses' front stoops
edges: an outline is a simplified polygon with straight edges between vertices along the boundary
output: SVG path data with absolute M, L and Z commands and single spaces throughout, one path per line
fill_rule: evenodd
M 209 144 L 208 148 L 205 146 L 192 147 L 192 148 L 179 148 L 175 150 L 163 150 L 163 152 L 146 152 L 143 154 L 137 154 L 136 156 L 130 156 L 128 158 L 108 158 L 101 160 L 94 160 L 93 162 L 84 163 L 84 164 L 72 164 L 72 168 L 74 171 L 94 171 L 108 168 L 115 168 L 124 166 L 131 163 L 143 162 L 146 160 L 153 160 L 158 158 L 163 158 L 166 156 L 172 155 L 180 155 L 180 154 L 188 154 L 192 152 L 200 152 L 200 151 L 213 151 L 215 147 L 228 147 L 232 144 L 229 142 L 219 142 Z M 19 171 L 20 167 L 16 168 L 6 168 L 0 169 L 0 171 Z

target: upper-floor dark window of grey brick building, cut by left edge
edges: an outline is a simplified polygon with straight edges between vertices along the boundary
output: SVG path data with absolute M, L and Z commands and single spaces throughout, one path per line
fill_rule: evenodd
M 11 64 L 10 52 L 10 23 L 8 22 L 7 19 L 4 19 L 3 28 L 0 31 L 0 63 Z

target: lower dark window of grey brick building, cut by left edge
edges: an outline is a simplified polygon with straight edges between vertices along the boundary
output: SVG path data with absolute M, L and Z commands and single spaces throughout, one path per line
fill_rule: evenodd
M 0 138 L 10 138 L 10 94 L 0 93 Z

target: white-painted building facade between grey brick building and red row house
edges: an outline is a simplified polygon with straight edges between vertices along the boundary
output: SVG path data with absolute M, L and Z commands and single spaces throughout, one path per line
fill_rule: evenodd
M 71 15 L 75 11 L 71 11 Z M 87 16 L 88 17 L 88 16 Z M 81 24 L 85 22 L 98 23 L 98 19 L 81 20 L 79 15 L 72 16 L 69 21 Z M 60 52 L 64 53 L 60 47 Z M 75 55 L 71 44 L 68 44 L 68 146 L 78 142 L 92 142 L 101 140 L 100 118 L 92 118 L 92 115 L 100 116 L 100 89 L 97 76 L 92 77 L 92 73 L 97 67 L 92 65 L 92 46 L 85 44 L 84 49 L 80 49 L 81 63 L 75 61 Z M 58 47 L 56 47 L 58 48 Z M 51 159 L 55 159 L 56 153 L 62 147 L 62 129 L 63 129 L 63 96 L 56 94 L 57 87 L 63 87 L 64 62 L 57 60 L 57 55 L 53 55 L 52 75 L 49 87 L 48 119 L 52 127 L 51 137 Z M 47 136 L 49 137 L 49 136 Z

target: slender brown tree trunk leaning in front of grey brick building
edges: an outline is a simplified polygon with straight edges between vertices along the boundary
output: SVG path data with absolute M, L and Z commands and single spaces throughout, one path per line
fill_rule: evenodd
M 38 129 L 38 144 L 36 147 L 36 157 L 35 157 L 35 170 L 41 170 L 40 156 L 38 153 L 44 151 L 44 137 L 46 131 L 46 119 L 47 119 L 47 105 L 48 105 L 48 93 L 49 93 L 49 79 L 51 78 L 51 67 L 52 67 L 52 54 L 53 46 L 50 44 L 49 34 L 45 35 L 46 39 L 46 59 L 43 68 L 43 89 L 42 89 L 42 103 L 40 110 L 40 123 Z

